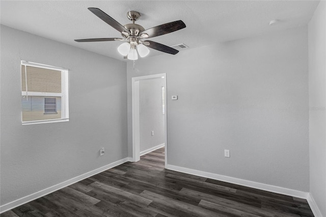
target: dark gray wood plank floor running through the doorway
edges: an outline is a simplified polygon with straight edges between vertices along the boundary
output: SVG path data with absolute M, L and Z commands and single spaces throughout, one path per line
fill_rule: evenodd
M 42 198 L 7 216 L 313 216 L 306 200 L 164 168 L 164 148 Z

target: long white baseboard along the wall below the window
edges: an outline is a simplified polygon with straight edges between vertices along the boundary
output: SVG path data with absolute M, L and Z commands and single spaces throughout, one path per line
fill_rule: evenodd
M 95 169 L 93 171 L 90 171 L 90 172 L 87 172 L 85 174 L 76 176 L 76 177 L 74 177 L 72 179 L 69 179 L 67 181 L 64 181 L 64 182 L 61 182 L 59 184 L 53 185 L 51 187 L 45 188 L 45 189 L 43 189 L 43 190 L 41 190 L 39 192 L 33 193 L 31 195 L 25 196 L 25 197 L 20 198 L 18 200 L 9 202 L 7 204 L 4 204 L 4 205 L 0 206 L 0 213 L 3 213 L 3 212 L 8 211 L 10 209 L 13 209 L 13 208 L 15 208 L 17 206 L 20 206 L 22 204 L 28 203 L 30 201 L 36 200 L 38 198 L 41 198 L 41 197 L 43 197 L 45 195 L 48 195 L 48 194 L 50 194 L 52 192 L 58 191 L 59 189 L 61 189 L 63 187 L 66 187 L 68 185 L 71 185 L 71 184 L 76 183 L 78 181 L 81 181 L 83 179 L 86 179 L 88 177 L 91 177 L 91 176 L 94 176 L 94 175 L 96 175 L 98 173 L 101 173 L 101 172 L 103 172 L 105 170 L 108 170 L 108 169 L 111 169 L 111 168 L 116 167 L 118 165 L 121 165 L 124 162 L 131 161 L 130 159 L 132 159 L 132 158 L 131 157 L 126 157 L 124 159 L 115 161 L 115 162 L 113 162 L 111 164 L 100 167 L 100 168 Z

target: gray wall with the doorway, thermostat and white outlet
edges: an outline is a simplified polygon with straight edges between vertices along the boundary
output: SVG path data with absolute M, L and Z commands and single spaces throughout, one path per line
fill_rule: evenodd
M 169 165 L 309 191 L 307 26 L 138 60 L 127 72 L 129 156 L 131 77 L 167 73 Z

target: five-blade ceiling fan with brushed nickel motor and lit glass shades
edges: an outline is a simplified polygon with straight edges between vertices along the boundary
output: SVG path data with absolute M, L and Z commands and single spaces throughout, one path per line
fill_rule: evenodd
M 127 41 L 118 47 L 118 51 L 121 53 L 121 55 L 127 57 L 129 60 L 137 60 L 138 54 L 140 57 L 146 57 L 149 53 L 149 49 L 147 47 L 159 50 L 161 52 L 170 53 L 172 55 L 176 55 L 179 52 L 179 50 L 176 50 L 167 45 L 144 39 L 153 38 L 181 30 L 186 27 L 182 20 L 168 22 L 145 30 L 143 26 L 134 23 L 141 16 L 141 14 L 137 11 L 129 11 L 127 13 L 127 17 L 132 21 L 132 23 L 121 25 L 111 16 L 107 15 L 98 8 L 88 8 L 88 10 L 90 10 L 93 14 L 98 16 L 107 24 L 111 25 L 114 29 L 121 32 L 121 36 L 123 38 L 75 39 L 76 42 Z

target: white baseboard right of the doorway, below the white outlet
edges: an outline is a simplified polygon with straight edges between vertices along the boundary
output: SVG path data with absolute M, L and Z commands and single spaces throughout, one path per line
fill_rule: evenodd
M 198 171 L 198 170 L 193 170 L 193 169 L 188 169 L 188 168 L 183 168 L 183 167 L 177 167 L 173 165 L 167 165 L 166 167 L 169 170 L 174 170 L 182 173 L 188 173 L 196 176 L 202 176 L 210 179 L 215 179 L 215 180 L 220 180 L 220 181 L 225 181 L 225 182 L 230 182 L 234 184 L 239 184 L 247 187 L 253 187 L 257 189 L 261 189 L 264 191 L 268 192 L 274 192 L 282 195 L 288 195 L 292 197 L 297 197 L 297 198 L 304 198 L 307 199 L 308 194 L 307 192 L 301 192 L 289 188 L 284 188 L 284 187 L 278 187 L 274 185 L 269 185 L 269 184 L 263 184 L 259 182 L 254 182 L 254 181 L 248 181 L 244 179 L 238 179 L 238 178 L 233 178 L 229 176 L 223 176 L 223 175 L 218 175 L 214 173 L 208 173 L 208 172 L 203 172 L 203 171 Z

